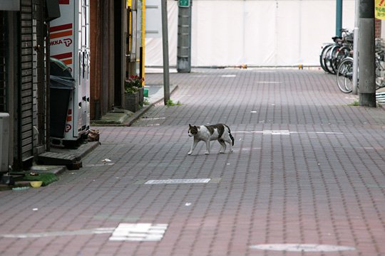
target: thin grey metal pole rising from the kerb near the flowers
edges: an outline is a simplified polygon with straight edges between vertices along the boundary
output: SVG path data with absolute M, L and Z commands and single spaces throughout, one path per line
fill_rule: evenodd
M 162 0 L 162 42 L 163 42 L 163 89 L 165 105 L 170 100 L 170 74 L 168 65 L 168 22 L 167 1 Z

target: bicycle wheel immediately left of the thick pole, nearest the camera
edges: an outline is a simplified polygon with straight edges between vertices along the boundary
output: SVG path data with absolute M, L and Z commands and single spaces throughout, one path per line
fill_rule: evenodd
M 353 58 L 345 58 L 337 69 L 337 85 L 339 90 L 349 93 L 353 90 Z

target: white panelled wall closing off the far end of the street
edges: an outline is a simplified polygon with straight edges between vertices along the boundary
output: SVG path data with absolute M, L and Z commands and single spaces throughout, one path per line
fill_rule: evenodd
M 354 0 L 343 3 L 343 27 L 352 29 Z M 176 65 L 177 4 L 168 1 L 170 65 Z M 335 20 L 336 0 L 194 0 L 191 65 L 319 65 Z M 162 38 L 146 38 L 145 65 L 162 63 Z

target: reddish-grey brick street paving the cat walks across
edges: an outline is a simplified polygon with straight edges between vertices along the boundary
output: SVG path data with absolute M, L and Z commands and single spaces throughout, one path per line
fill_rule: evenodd
M 356 97 L 319 70 L 193 71 L 170 75 L 182 105 L 100 127 L 82 169 L 1 191 L 0 255 L 385 255 L 382 108 L 349 106 Z M 234 153 L 212 142 L 205 156 L 201 142 L 187 156 L 188 124 L 217 122 L 232 129 Z M 212 180 L 145 184 L 195 178 Z M 140 225 L 118 233 L 121 223 Z M 253 247 L 270 244 L 304 251 Z

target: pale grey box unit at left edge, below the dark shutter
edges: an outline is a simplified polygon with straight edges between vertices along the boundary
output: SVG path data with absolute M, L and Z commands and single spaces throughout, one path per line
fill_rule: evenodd
M 8 172 L 9 114 L 0 113 L 0 172 Z

